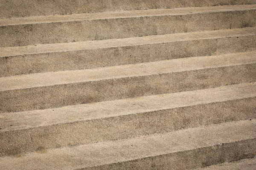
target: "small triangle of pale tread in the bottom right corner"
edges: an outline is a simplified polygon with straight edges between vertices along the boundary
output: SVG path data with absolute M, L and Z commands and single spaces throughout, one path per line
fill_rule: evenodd
M 212 165 L 198 170 L 255 170 L 256 157 L 251 159 L 242 159 L 240 161 L 227 162 L 223 164 Z

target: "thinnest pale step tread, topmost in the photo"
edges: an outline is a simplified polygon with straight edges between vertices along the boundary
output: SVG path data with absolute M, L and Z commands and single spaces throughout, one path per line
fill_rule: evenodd
M 148 9 L 148 10 L 133 10 L 133 11 L 109 11 L 89 14 L 72 14 L 72 15 L 51 15 L 37 17 L 19 17 L 0 19 L 0 26 L 12 26 L 23 24 L 36 23 L 55 23 L 55 22 L 70 22 L 77 20 L 105 20 L 114 18 L 128 17 L 151 17 L 165 15 L 186 15 L 199 14 L 210 12 L 223 11 L 242 11 L 256 9 L 256 4 L 251 5 L 233 5 L 233 6 L 209 6 L 209 7 L 188 7 L 188 8 L 172 8 L 172 9 Z

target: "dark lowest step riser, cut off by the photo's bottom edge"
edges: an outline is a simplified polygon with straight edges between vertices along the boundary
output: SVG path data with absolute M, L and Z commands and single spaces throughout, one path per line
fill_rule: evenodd
M 216 136 L 217 137 L 217 136 Z M 206 167 L 256 156 L 256 139 L 77 170 L 172 170 Z M 228 154 L 227 154 L 228 153 Z

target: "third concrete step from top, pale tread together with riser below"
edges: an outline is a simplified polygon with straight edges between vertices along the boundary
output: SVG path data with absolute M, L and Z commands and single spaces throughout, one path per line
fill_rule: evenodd
M 198 90 L 255 79 L 256 51 L 0 77 L 0 113 Z

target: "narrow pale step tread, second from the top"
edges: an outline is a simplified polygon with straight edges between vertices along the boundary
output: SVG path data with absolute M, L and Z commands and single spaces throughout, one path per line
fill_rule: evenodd
M 256 27 L 0 48 L 0 57 L 255 35 Z

